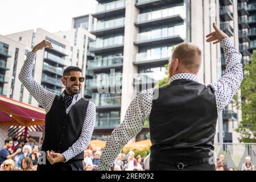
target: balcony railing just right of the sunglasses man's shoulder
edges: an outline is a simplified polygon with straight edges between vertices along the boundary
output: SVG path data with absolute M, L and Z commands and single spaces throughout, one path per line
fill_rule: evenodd
M 96 106 L 121 105 L 121 96 L 93 98 L 92 101 Z

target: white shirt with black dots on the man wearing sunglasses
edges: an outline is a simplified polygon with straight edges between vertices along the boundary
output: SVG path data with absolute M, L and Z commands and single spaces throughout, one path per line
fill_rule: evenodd
M 33 63 L 35 60 L 35 55 L 36 54 L 34 52 L 28 52 L 27 59 L 19 73 L 19 80 L 22 82 L 28 92 L 30 92 L 30 94 L 35 98 L 35 100 L 38 101 L 39 105 L 43 106 L 43 108 L 46 109 L 47 114 L 48 111 L 51 109 L 56 94 L 44 89 L 32 77 L 32 69 L 34 67 Z M 64 93 L 61 94 L 64 97 Z M 81 94 L 74 95 L 71 105 L 69 105 L 69 107 L 66 109 L 66 114 L 68 114 L 71 107 L 75 105 L 76 102 L 78 102 L 81 98 Z M 76 142 L 73 143 L 67 151 L 63 152 L 63 156 L 65 157 L 66 162 L 69 159 L 72 159 L 76 155 L 80 154 L 88 146 L 90 139 L 92 138 L 95 120 L 96 106 L 93 102 L 89 101 L 86 110 L 85 121 L 82 125 L 82 131 L 79 139 L 77 139 Z

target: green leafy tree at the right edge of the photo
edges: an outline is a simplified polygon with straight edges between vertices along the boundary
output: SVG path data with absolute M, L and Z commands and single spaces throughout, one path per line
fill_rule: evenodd
M 241 134 L 240 142 L 256 142 L 256 51 L 251 56 L 251 63 L 244 67 L 245 76 L 241 83 L 242 121 L 237 128 Z

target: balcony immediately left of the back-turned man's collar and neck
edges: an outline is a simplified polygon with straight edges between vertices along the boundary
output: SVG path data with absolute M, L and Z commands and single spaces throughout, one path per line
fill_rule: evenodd
M 139 73 L 137 78 L 134 78 L 134 85 L 154 85 L 162 80 L 166 75 L 164 73 L 156 73 L 156 72 L 150 72 L 150 73 Z

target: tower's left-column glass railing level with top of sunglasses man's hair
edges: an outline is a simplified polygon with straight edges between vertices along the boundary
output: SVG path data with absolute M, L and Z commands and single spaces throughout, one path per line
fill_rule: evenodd
M 112 58 L 100 59 L 100 60 L 89 60 L 87 62 L 88 68 L 100 68 L 114 65 L 122 65 L 123 56 L 117 56 Z

